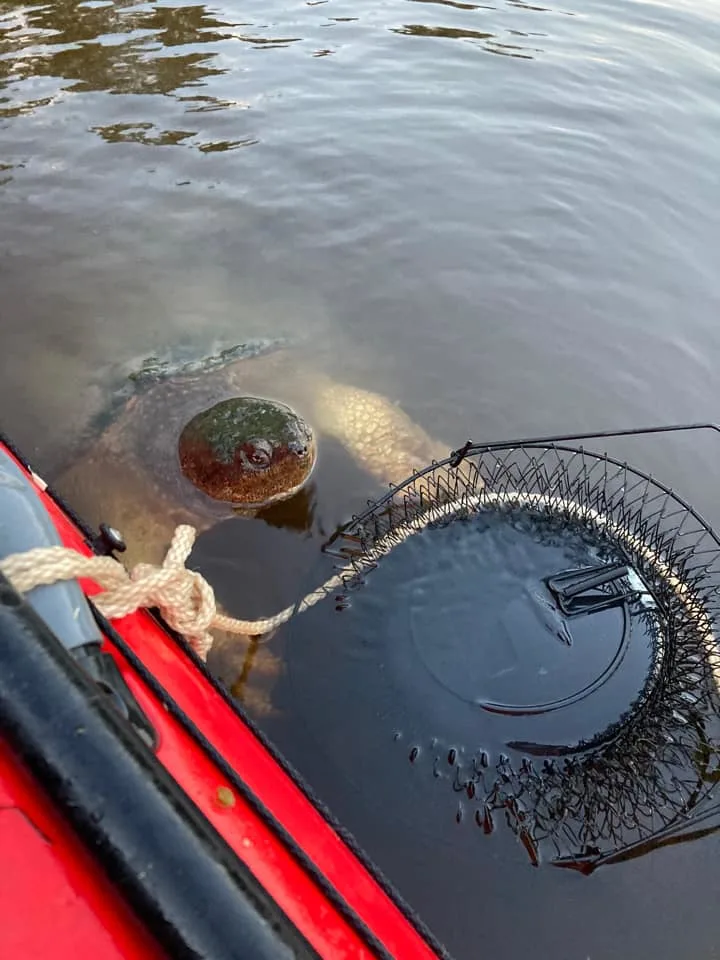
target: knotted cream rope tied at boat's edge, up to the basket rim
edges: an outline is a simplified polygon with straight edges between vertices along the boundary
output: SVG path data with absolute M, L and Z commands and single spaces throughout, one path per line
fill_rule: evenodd
M 196 536 L 194 527 L 177 527 L 159 567 L 138 563 L 128 572 L 113 557 L 86 557 L 70 547 L 36 547 L 1 560 L 0 571 L 23 594 L 59 580 L 76 577 L 92 580 L 103 588 L 102 593 L 93 597 L 93 602 L 108 620 L 125 617 L 141 607 L 157 607 L 173 630 L 203 659 L 213 643 L 211 630 L 246 637 L 269 633 L 295 612 L 317 603 L 341 582 L 340 577 L 331 578 L 323 587 L 308 594 L 301 604 L 286 607 L 274 617 L 237 620 L 218 613 L 210 584 L 202 574 L 185 566 Z

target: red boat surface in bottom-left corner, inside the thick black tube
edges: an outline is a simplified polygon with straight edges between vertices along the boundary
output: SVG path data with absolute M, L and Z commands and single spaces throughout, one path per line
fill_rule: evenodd
M 0 741 L 0 957 L 162 956 Z

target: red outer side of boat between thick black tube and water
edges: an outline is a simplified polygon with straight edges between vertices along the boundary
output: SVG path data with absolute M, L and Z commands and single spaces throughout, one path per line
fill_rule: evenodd
M 41 491 L 39 496 L 63 542 L 90 554 L 82 534 L 54 500 Z M 92 583 L 83 583 L 83 588 L 88 595 L 97 592 Z M 172 699 L 373 931 L 388 953 L 397 960 L 434 958 L 435 953 L 425 940 L 304 792 L 155 619 L 146 611 L 139 611 L 117 620 L 114 626 Z M 370 957 L 352 927 L 242 797 L 234 794 L 229 806 L 218 801 L 218 788 L 229 787 L 220 770 L 165 711 L 119 652 L 110 646 L 108 649 L 115 655 L 128 685 L 160 731 L 160 761 L 320 955 L 333 960 Z M 1 899 L 0 910 L 3 910 Z M 26 952 L 22 955 L 28 956 Z M 5 954 L 0 951 L 0 956 Z

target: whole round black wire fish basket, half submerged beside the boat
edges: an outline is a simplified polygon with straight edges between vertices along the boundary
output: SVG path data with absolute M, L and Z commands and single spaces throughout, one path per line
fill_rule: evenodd
M 533 863 L 589 872 L 720 826 L 720 543 L 669 488 L 560 442 L 468 444 L 323 563 L 342 586 L 292 629 L 335 618 L 340 698 L 376 730 L 402 715 L 394 747 L 480 834 L 504 822 Z

